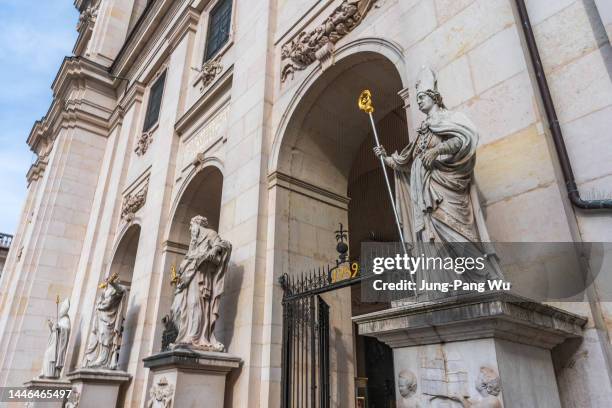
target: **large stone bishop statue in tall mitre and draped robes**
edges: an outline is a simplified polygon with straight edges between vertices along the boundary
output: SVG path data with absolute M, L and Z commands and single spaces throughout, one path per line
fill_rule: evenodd
M 416 140 L 390 156 L 384 147 L 374 148 L 374 153 L 395 170 L 396 203 L 404 236 L 414 243 L 415 256 L 488 258 L 489 267 L 466 271 L 461 276 L 464 282 L 501 279 L 496 257 L 488 256 L 494 252 L 487 242 L 473 180 L 478 132 L 465 115 L 446 109 L 429 68 L 421 70 L 416 88 L 419 109 L 427 115 Z M 463 252 L 453 254 L 449 245 L 435 245 L 434 250 L 434 245 L 424 243 L 462 243 L 458 247 Z M 453 271 L 435 273 L 439 274 L 433 277 L 435 281 L 457 279 Z

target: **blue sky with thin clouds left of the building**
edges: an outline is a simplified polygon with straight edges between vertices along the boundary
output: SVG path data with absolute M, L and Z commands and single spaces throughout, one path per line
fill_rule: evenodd
M 14 234 L 36 159 L 26 144 L 77 38 L 72 0 L 0 0 L 0 232 Z

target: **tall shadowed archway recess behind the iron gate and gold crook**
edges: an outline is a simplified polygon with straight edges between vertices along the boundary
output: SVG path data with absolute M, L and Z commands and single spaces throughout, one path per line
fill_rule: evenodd
M 291 109 L 269 176 L 274 247 L 282 255 L 276 257 L 275 274 L 291 276 L 333 263 L 339 223 L 348 225 L 353 260 L 359 259 L 362 241 L 396 240 L 370 124 L 356 102 L 363 89 L 372 91 L 381 141 L 389 151 L 401 149 L 408 143 L 404 101 L 398 95 L 404 86 L 391 60 L 377 52 L 359 52 L 338 59 Z M 367 376 L 368 345 L 355 335 L 351 316 L 386 307 L 361 304 L 358 292 L 353 287 L 322 295 L 330 305 L 332 406 L 353 406 L 355 378 Z M 393 372 L 392 366 L 388 371 Z M 384 388 L 385 376 L 380 377 Z M 389 388 L 392 393 L 392 382 Z

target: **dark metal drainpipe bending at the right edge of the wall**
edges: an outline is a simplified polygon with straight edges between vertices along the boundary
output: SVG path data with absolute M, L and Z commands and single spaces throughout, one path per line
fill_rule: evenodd
M 555 150 L 557 151 L 557 157 L 559 158 L 559 163 L 561 165 L 561 171 L 563 172 L 567 195 L 571 203 L 575 207 L 582 210 L 612 209 L 612 198 L 603 200 L 584 200 L 580 197 L 580 192 L 578 191 L 578 186 L 576 184 L 576 178 L 574 177 L 574 171 L 572 170 L 572 164 L 570 163 L 565 141 L 563 140 L 561 126 L 559 126 L 559 119 L 557 118 L 555 105 L 550 94 L 550 88 L 548 87 L 548 81 L 546 80 L 546 75 L 544 74 L 544 68 L 542 66 L 542 60 L 540 59 L 538 45 L 535 41 L 535 36 L 533 35 L 533 27 L 529 21 L 529 13 L 527 12 L 527 7 L 525 6 L 525 0 L 515 1 L 519 17 L 521 19 L 521 27 L 523 28 L 525 41 L 527 42 L 531 65 L 535 72 L 538 88 L 540 89 L 540 96 L 542 97 L 542 103 L 544 104 L 544 111 L 548 120 L 548 127 L 552 134 Z

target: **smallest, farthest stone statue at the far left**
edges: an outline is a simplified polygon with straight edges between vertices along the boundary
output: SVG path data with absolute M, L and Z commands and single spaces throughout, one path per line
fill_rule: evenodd
M 59 303 L 59 296 L 57 298 Z M 70 299 L 64 299 L 59 305 L 57 321 L 48 320 L 49 342 L 43 356 L 43 366 L 40 378 L 59 378 L 66 361 L 66 348 L 70 337 Z

